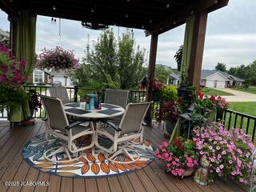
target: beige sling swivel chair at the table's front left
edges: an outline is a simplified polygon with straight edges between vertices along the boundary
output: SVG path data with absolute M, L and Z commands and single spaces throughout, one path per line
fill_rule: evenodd
M 86 121 L 77 121 L 69 124 L 63 109 L 62 101 L 59 98 L 52 98 L 47 96 L 41 97 L 42 104 L 46 110 L 50 133 L 53 134 L 54 137 L 58 138 L 62 144 L 62 146 L 57 146 L 53 149 L 46 150 L 44 157 L 48 161 L 63 162 L 52 159 L 51 157 L 53 157 L 55 154 L 64 152 L 69 158 L 69 160 L 64 162 L 69 162 L 79 158 L 78 153 L 82 153 L 82 150 L 87 150 L 94 146 L 94 140 L 92 140 L 89 146 L 78 147 L 75 143 L 76 138 L 84 135 L 91 134 L 92 138 L 94 138 L 94 130 L 91 130 L 90 127 L 88 128 L 82 125 L 82 123 Z

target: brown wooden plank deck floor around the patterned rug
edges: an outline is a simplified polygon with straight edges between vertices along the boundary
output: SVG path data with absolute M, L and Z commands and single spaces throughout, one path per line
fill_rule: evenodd
M 0 192 L 4 191 L 52 191 L 52 192 L 146 192 L 146 191 L 246 191 L 243 186 L 233 182 L 217 180 L 210 186 L 198 186 L 191 178 L 180 180 L 165 173 L 163 163 L 155 160 L 142 170 L 118 177 L 78 179 L 62 178 L 35 170 L 22 159 L 22 146 L 37 134 L 45 130 L 44 123 L 36 122 L 35 126 L 9 128 L 9 122 L 0 122 Z M 164 138 L 156 128 L 146 128 L 145 137 L 158 146 Z M 50 182 L 50 186 L 4 186 L 4 182 Z

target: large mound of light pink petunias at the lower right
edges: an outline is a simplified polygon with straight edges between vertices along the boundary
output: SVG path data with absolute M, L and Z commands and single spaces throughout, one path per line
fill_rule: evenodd
M 193 140 L 201 158 L 210 162 L 211 179 L 218 176 L 249 182 L 255 147 L 243 130 L 229 131 L 222 124 L 214 123 L 194 128 Z

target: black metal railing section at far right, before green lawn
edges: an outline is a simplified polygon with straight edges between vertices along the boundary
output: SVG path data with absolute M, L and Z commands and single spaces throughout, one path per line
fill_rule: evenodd
M 240 128 L 250 134 L 252 141 L 255 138 L 256 117 L 249 114 L 242 114 L 234 110 L 225 110 L 222 118 L 223 125 L 227 130 Z

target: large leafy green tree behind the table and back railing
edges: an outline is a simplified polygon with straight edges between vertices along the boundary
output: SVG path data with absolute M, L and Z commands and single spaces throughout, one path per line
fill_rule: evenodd
M 132 32 L 117 41 L 112 29 L 104 30 L 92 47 L 88 41 L 86 57 L 70 78 L 74 85 L 94 90 L 134 89 L 146 74 L 144 55 L 145 50 L 135 46 Z

